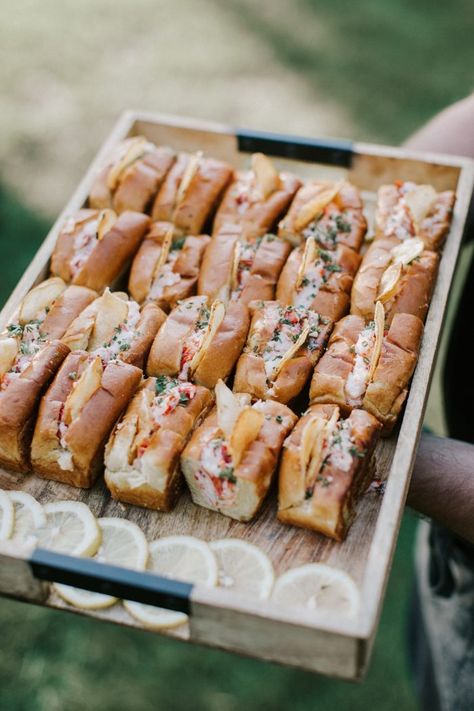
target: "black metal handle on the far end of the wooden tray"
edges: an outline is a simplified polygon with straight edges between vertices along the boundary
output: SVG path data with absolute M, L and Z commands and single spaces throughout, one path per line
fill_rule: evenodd
M 261 151 L 279 158 L 324 163 L 350 168 L 354 155 L 353 143 L 345 139 L 301 138 L 266 131 L 237 129 L 239 151 Z

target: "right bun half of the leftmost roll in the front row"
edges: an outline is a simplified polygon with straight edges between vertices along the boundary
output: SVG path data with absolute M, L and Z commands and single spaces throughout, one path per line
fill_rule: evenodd
M 0 391 L 0 463 L 8 469 L 30 468 L 30 443 L 41 395 L 69 353 L 60 341 L 44 346 L 18 378 Z

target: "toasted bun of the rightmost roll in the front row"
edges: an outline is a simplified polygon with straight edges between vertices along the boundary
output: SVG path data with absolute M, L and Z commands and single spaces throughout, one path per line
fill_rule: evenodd
M 354 517 L 355 502 L 370 482 L 371 457 L 381 425 L 368 412 L 353 410 L 348 418 L 351 439 L 359 452 L 365 452 L 364 458 L 352 456 L 348 470 L 330 461 L 323 470 L 324 481 L 316 480 L 312 495 L 307 497 L 300 463 L 302 433 L 312 416 L 329 420 L 334 409 L 334 405 L 311 407 L 287 439 L 279 472 L 278 518 L 342 541 Z

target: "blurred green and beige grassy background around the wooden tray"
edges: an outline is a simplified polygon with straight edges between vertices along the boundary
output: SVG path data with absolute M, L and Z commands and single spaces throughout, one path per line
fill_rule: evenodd
M 398 143 L 472 89 L 473 32 L 470 0 L 0 0 L 1 300 L 122 109 Z M 415 524 L 360 685 L 1 600 L 0 708 L 415 709 Z

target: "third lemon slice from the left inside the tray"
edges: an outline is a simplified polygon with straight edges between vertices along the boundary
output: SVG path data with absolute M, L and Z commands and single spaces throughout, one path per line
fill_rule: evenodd
M 43 506 L 46 522 L 37 529 L 38 545 L 56 553 L 91 556 L 100 546 L 100 528 L 80 501 L 54 501 Z

